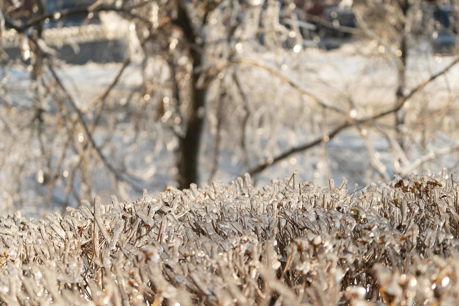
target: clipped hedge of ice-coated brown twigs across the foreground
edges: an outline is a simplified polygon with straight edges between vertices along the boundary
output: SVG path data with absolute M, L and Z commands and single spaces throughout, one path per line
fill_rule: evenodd
M 453 177 L 454 178 L 454 177 Z M 455 305 L 459 183 L 174 187 L 0 219 L 6 305 Z

